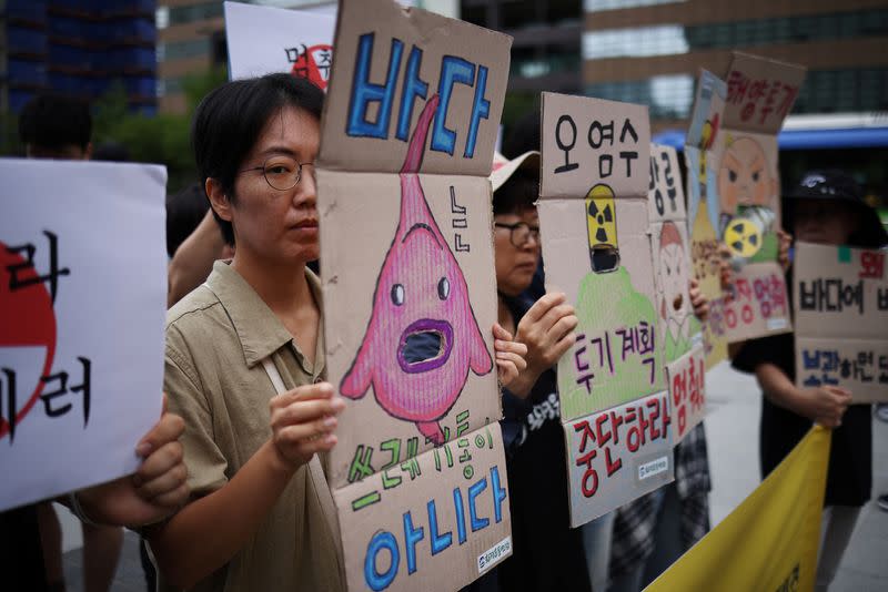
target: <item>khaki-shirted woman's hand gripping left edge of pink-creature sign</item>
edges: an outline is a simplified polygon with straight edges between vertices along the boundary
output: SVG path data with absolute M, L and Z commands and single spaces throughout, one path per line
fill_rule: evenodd
M 278 395 L 270 402 L 272 443 L 278 458 L 295 470 L 316 452 L 336 445 L 336 416 L 345 401 L 330 382 L 305 385 Z

